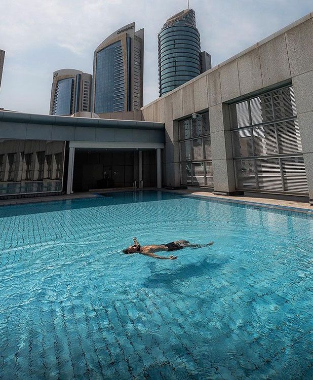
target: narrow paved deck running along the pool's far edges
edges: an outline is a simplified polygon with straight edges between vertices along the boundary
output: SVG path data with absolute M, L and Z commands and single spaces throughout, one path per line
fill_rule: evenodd
M 145 190 L 156 190 L 156 188 L 149 187 L 149 188 L 145 188 Z M 124 192 L 124 191 L 133 191 L 133 188 L 132 187 L 108 188 L 108 189 L 98 189 L 98 190 L 84 192 L 84 193 L 76 193 L 76 194 L 71 194 L 71 195 L 7 199 L 7 200 L 0 200 L 0 206 L 63 201 L 63 200 L 69 200 L 69 199 L 95 198 L 98 196 L 98 194 Z M 192 196 L 192 197 L 197 197 L 197 198 L 212 199 L 216 201 L 249 204 L 249 205 L 255 205 L 255 206 L 263 206 L 267 208 L 269 207 L 269 208 L 276 208 L 276 209 L 287 210 L 287 211 L 289 210 L 289 211 L 313 214 L 313 206 L 310 206 L 309 203 L 286 200 L 286 199 L 283 200 L 283 199 L 273 199 L 273 198 L 263 198 L 263 197 L 260 198 L 260 197 L 251 197 L 251 196 L 222 196 L 222 195 L 215 195 L 209 191 L 205 191 L 204 189 L 197 189 L 197 188 L 188 188 L 188 189 L 183 189 L 183 190 L 162 189 L 162 191 L 180 194 L 180 195 Z

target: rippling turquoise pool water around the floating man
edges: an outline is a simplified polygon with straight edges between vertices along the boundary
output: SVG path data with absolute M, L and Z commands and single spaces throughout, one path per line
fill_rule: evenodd
M 0 379 L 313 378 L 311 216 L 117 193 L 1 207 L 0 233 Z

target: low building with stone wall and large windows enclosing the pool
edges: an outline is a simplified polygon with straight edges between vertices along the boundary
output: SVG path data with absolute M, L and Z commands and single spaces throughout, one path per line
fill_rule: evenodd
M 139 111 L 92 119 L 2 110 L 0 198 L 143 181 L 313 204 L 311 46 L 308 14 Z

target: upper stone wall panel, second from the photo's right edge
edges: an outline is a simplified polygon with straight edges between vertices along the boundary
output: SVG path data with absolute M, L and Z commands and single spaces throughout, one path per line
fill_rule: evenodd
M 285 35 L 259 46 L 263 86 L 271 86 L 291 78 Z

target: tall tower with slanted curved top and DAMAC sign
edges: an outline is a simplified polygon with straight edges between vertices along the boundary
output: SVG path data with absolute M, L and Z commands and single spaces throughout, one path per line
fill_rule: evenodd
M 93 105 L 96 113 L 133 111 L 143 105 L 144 29 L 135 23 L 109 35 L 94 52 Z

